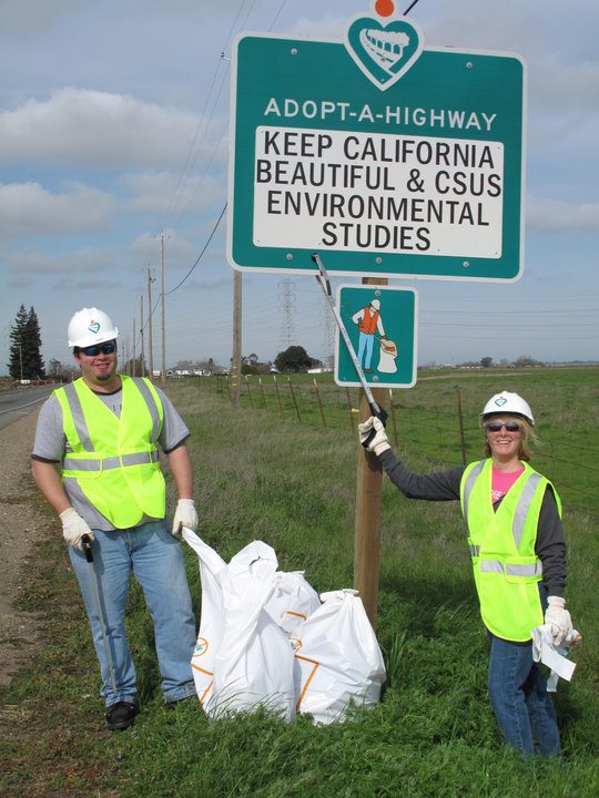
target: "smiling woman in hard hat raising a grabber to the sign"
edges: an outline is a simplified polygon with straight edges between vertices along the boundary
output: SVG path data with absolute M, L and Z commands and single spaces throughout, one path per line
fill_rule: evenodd
M 490 640 L 488 692 L 497 723 L 522 754 L 548 757 L 559 753 L 559 732 L 545 676 L 532 659 L 531 631 L 547 624 L 556 646 L 572 632 L 564 600 L 561 502 L 528 464 L 535 418 L 520 396 L 496 393 L 480 423 L 486 459 L 432 474 L 415 474 L 399 462 L 377 418 L 359 424 L 359 438 L 408 499 L 461 502 Z

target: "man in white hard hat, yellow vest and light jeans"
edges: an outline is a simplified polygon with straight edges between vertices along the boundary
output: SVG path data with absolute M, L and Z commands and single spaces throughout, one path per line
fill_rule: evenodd
M 197 526 L 190 432 L 150 380 L 116 371 L 118 336 L 102 310 L 74 314 L 68 337 L 81 377 L 42 406 L 32 456 L 33 479 L 60 516 L 88 611 L 109 730 L 128 728 L 139 712 L 124 628 L 132 571 L 154 623 L 164 700 L 174 707 L 195 695 L 195 618 L 176 539 L 182 525 Z M 172 526 L 159 447 L 179 497 Z

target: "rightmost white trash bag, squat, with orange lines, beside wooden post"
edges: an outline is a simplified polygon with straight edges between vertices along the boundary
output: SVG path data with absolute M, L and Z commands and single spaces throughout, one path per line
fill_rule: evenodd
M 351 702 L 374 707 L 385 664 L 357 591 L 323 593 L 323 604 L 297 630 L 296 710 L 316 724 L 343 720 Z M 301 673 L 300 673 L 301 671 Z

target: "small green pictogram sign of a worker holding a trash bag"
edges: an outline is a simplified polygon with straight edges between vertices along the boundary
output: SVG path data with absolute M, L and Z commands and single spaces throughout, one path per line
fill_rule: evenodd
M 418 294 L 414 288 L 342 285 L 336 306 L 366 381 L 373 388 L 416 385 Z M 337 329 L 335 382 L 361 386 L 354 360 Z

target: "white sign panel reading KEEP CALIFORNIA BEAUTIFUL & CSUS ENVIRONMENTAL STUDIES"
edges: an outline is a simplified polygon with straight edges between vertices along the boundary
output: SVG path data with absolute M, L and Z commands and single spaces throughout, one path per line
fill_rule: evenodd
M 254 174 L 255 246 L 501 256 L 500 142 L 261 125 Z

